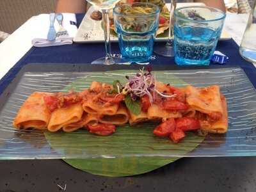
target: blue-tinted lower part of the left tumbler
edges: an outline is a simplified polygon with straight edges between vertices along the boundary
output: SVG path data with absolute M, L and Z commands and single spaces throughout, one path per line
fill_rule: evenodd
M 148 61 L 152 56 L 154 31 L 147 33 L 127 33 L 117 27 L 122 58 L 130 62 Z

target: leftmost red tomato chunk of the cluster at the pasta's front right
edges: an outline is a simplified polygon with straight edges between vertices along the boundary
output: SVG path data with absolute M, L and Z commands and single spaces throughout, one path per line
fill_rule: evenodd
M 154 129 L 153 133 L 156 136 L 166 137 L 166 136 L 169 136 L 170 133 L 175 130 L 175 127 L 176 127 L 176 125 L 175 125 L 174 118 L 169 118 L 162 124 L 158 125 L 156 127 L 156 129 Z

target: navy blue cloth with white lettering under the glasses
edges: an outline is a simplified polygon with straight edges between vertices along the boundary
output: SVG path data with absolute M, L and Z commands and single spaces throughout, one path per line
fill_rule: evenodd
M 83 14 L 77 14 L 77 25 L 81 24 Z M 163 43 L 162 43 L 163 44 Z M 164 45 L 164 44 L 163 44 Z M 118 44 L 111 44 L 112 52 L 119 53 Z M 250 81 L 256 86 L 256 70 L 252 63 L 243 60 L 239 54 L 239 47 L 234 40 L 220 41 L 216 50 L 229 57 L 227 65 L 240 66 L 244 69 Z M 12 67 L 0 80 L 0 94 L 12 81 L 20 68 L 28 63 L 90 63 L 104 56 L 104 44 L 72 44 L 56 47 L 32 47 L 30 51 Z M 151 60 L 152 65 L 175 65 L 173 58 L 156 55 L 156 60 Z M 211 64 L 212 66 L 214 64 Z M 216 64 L 215 64 L 216 65 Z M 216 67 L 216 66 L 215 66 Z M 220 67 L 224 67 L 220 65 Z

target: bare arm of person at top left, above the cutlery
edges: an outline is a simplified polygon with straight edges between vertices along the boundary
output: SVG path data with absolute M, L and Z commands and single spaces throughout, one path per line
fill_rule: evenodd
M 85 0 L 57 0 L 56 13 L 85 13 Z

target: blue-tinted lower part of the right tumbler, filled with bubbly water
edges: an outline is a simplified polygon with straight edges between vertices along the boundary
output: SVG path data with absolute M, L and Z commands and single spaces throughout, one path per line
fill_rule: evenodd
M 221 29 L 174 26 L 175 63 L 177 65 L 209 65 Z

